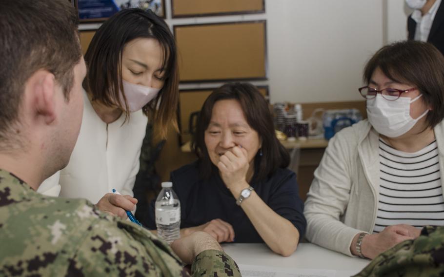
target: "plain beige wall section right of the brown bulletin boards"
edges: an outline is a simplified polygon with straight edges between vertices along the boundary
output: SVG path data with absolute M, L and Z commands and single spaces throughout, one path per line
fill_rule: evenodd
M 383 45 L 382 0 L 268 0 L 271 102 L 359 100 Z

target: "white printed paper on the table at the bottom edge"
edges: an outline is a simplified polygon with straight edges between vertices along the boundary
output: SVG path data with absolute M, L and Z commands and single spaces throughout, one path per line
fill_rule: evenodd
M 239 264 L 243 277 L 335 277 L 335 270 L 280 268 Z

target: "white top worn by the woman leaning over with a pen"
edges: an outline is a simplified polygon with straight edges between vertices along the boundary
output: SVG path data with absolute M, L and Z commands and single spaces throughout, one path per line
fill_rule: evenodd
M 129 121 L 124 122 L 122 115 L 106 124 L 94 111 L 86 92 L 83 102 L 80 134 L 68 165 L 46 179 L 37 191 L 49 196 L 86 198 L 93 203 L 113 188 L 133 196 L 147 117 L 140 110 L 131 113 Z

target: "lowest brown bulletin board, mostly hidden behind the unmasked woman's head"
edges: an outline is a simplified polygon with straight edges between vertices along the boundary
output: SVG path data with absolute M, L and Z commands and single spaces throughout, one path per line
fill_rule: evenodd
M 268 100 L 268 86 L 257 86 L 257 88 Z M 179 142 L 181 145 L 191 140 L 192 135 L 189 130 L 190 115 L 201 110 L 203 102 L 205 102 L 213 90 L 214 89 L 192 89 L 181 90 L 179 92 L 179 112 L 177 121 L 179 122 Z

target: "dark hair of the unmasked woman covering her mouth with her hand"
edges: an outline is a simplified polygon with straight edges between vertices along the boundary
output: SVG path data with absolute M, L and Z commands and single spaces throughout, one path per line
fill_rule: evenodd
M 235 99 L 242 107 L 246 121 L 262 140 L 262 156 L 259 152 L 255 157 L 255 180 L 271 176 L 279 167 L 285 168 L 290 162 L 287 150 L 276 138 L 273 116 L 268 103 L 258 89 L 249 83 L 227 83 L 214 90 L 205 100 L 199 114 L 196 133 L 192 148 L 200 158 L 201 178 L 210 177 L 213 170 L 212 162 L 205 145 L 205 131 L 210 123 L 214 104 L 219 100 Z

